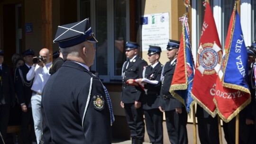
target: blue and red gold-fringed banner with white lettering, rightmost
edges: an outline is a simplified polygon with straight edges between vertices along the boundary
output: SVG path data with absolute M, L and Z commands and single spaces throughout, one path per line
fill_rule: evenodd
M 222 66 L 218 74 L 214 102 L 219 117 L 229 122 L 251 101 L 247 85 L 247 49 L 236 5 L 230 18 Z

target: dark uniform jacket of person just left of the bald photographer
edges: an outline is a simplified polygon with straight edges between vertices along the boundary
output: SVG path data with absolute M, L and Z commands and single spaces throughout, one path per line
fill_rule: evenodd
M 15 90 L 18 96 L 19 104 L 25 103 L 26 106 L 30 104 L 31 96 L 32 96 L 32 84 L 33 81 L 27 81 L 27 72 L 29 68 L 26 64 L 18 67 L 15 70 Z M 22 77 L 20 75 L 22 74 Z

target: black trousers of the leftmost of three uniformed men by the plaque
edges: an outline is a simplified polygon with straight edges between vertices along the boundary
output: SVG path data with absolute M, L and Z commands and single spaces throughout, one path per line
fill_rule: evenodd
M 126 120 L 130 128 L 131 137 L 144 141 L 145 124 L 143 118 L 143 109 L 135 108 L 134 103 L 124 104 Z

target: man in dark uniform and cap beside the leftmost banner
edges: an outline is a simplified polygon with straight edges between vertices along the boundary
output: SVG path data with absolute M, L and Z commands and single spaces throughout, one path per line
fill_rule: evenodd
M 188 144 L 186 109 L 183 104 L 175 99 L 169 92 L 174 70 L 177 63 L 180 42 L 169 40 L 167 45 L 167 57 L 161 74 L 162 87 L 160 91 L 159 109 L 165 112 L 167 132 L 171 144 Z

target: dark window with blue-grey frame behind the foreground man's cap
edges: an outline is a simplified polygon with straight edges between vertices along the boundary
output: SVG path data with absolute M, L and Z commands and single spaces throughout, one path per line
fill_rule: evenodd
M 80 0 L 79 3 L 79 18 L 90 18 L 99 41 L 91 70 L 104 82 L 121 80 L 126 61 L 124 46 L 129 37 L 128 3 L 129 0 Z

